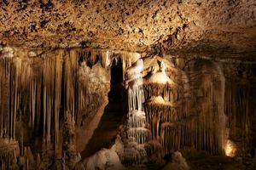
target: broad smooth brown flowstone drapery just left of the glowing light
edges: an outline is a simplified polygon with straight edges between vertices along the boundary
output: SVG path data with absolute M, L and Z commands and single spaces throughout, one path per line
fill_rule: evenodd
M 188 72 L 191 99 L 190 111 L 195 120 L 189 129 L 189 143 L 199 150 L 219 155 L 224 154 L 227 137 L 224 114 L 225 78 L 220 65 L 210 60 L 191 61 L 193 71 Z M 193 65 L 192 65 L 193 64 Z

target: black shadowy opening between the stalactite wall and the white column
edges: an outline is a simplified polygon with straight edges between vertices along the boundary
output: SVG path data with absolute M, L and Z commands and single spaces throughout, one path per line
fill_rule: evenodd
M 82 158 L 92 156 L 96 151 L 102 148 L 110 148 L 119 131 L 119 125 L 122 124 L 123 117 L 127 110 L 127 98 L 122 86 L 123 71 L 122 60 L 113 59 L 111 66 L 110 92 L 108 93 L 108 105 L 106 105 L 101 121 L 96 127 L 85 150 L 81 152 Z

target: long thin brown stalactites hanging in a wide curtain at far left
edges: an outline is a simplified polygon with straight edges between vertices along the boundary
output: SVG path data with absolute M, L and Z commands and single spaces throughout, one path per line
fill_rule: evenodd
M 110 55 L 108 51 L 78 48 L 38 57 L 0 58 L 0 138 L 15 139 L 16 124 L 25 122 L 29 132 L 43 129 L 44 148 L 53 145 L 56 156 L 62 150 L 61 119 L 65 121 L 68 113 L 72 122 L 77 122 L 86 104 L 93 102 L 86 98 L 86 88 L 79 82 L 79 67 L 99 63 L 107 68 Z M 23 144 L 22 137 L 17 140 Z

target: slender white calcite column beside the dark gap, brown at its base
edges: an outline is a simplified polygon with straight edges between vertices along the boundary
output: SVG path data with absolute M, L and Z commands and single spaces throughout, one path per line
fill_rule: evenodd
M 122 162 L 126 166 L 143 163 L 147 157 L 145 144 L 148 142 L 150 131 L 146 126 L 146 116 L 143 111 L 144 91 L 143 91 L 143 59 L 131 65 L 127 70 L 128 88 L 128 108 L 126 130 L 127 140 L 125 142 L 125 155 Z

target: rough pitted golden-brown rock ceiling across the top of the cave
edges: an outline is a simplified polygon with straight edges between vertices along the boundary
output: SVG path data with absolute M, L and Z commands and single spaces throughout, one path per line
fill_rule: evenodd
M 5 0 L 0 40 L 27 48 L 252 54 L 255 8 L 254 0 Z

